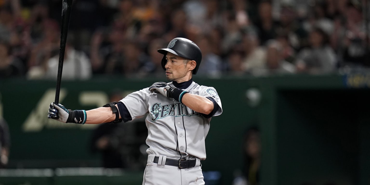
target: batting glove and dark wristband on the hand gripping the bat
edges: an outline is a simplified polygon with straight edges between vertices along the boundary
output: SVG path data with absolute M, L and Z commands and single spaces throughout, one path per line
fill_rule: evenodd
M 47 118 L 58 120 L 64 123 L 77 123 L 85 124 L 86 122 L 86 111 L 85 110 L 67 110 L 61 104 L 50 104 Z

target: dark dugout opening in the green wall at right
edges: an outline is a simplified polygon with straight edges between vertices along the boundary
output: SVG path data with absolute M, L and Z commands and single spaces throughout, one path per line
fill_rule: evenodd
M 370 90 L 279 90 L 279 185 L 370 184 Z

